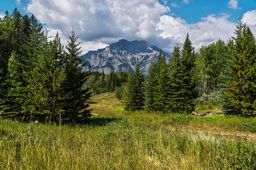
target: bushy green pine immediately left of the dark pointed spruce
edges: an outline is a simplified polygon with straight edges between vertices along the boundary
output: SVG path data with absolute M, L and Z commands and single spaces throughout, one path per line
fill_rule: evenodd
M 65 55 L 58 32 L 55 39 L 46 45 L 45 53 L 39 56 L 38 64 L 32 71 L 28 86 L 31 105 L 28 109 L 33 118 L 45 120 L 51 116 L 57 121 L 63 113 L 66 95 Z

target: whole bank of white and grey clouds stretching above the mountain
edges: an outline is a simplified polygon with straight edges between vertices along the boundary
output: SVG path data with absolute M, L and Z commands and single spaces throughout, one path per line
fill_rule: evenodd
M 208 15 L 200 22 L 188 24 L 169 14 L 170 7 L 156 0 L 29 0 L 26 10 L 46 23 L 53 36 L 58 31 L 63 44 L 74 25 L 76 35 L 83 42 L 83 53 L 104 48 L 119 39 L 137 39 L 171 54 L 173 46 L 183 45 L 187 32 L 198 51 L 202 45 L 234 36 L 236 28 L 227 13 Z M 256 21 L 250 16 L 255 16 L 255 12 L 244 14 L 244 20 L 253 28 Z

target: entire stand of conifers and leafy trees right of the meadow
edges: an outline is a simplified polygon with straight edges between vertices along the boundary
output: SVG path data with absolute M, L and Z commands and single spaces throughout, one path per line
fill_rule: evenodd
M 168 64 L 161 52 L 158 60 L 151 60 L 145 80 L 137 63 L 124 86 L 125 108 L 191 113 L 196 105 L 220 103 L 227 114 L 254 113 L 255 37 L 241 19 L 234 33 L 227 42 L 219 39 L 202 46 L 199 53 L 187 34 L 181 50 L 174 46 Z

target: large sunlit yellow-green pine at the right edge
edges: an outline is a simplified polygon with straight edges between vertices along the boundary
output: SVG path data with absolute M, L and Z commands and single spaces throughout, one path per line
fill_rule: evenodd
M 240 25 L 237 26 L 240 28 Z M 255 38 L 244 24 L 242 32 L 236 30 L 234 61 L 229 62 L 230 73 L 233 76 L 227 82 L 228 91 L 224 96 L 243 115 L 251 114 L 256 109 L 256 54 Z

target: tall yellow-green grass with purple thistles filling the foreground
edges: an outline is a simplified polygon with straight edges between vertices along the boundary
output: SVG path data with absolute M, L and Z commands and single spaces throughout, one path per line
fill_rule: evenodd
M 87 125 L 1 121 L 0 169 L 253 169 L 256 142 L 92 117 Z

